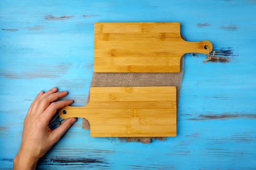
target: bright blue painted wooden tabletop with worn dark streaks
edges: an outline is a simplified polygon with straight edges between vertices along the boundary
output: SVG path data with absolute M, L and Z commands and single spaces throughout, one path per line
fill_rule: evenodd
M 177 137 L 151 144 L 90 137 L 81 119 L 39 169 L 256 169 L 255 0 L 1 0 L 0 169 L 12 169 L 27 109 L 40 90 L 87 100 L 94 22 L 180 22 L 218 61 L 185 55 Z

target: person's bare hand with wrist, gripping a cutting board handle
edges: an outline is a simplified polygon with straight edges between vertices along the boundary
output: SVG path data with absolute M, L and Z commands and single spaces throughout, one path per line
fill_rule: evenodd
M 24 119 L 20 149 L 14 158 L 14 170 L 35 170 L 39 158 L 76 122 L 76 118 L 70 118 L 54 130 L 48 127 L 58 109 L 73 103 L 73 100 L 55 102 L 67 95 L 67 91 L 57 91 L 56 87 L 45 93 L 40 91 L 32 102 Z

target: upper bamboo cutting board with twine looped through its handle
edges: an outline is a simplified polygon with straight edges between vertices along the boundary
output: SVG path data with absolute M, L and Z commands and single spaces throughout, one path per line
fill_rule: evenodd
M 207 54 L 210 41 L 187 42 L 178 22 L 98 22 L 94 24 L 95 72 L 179 72 L 189 52 Z

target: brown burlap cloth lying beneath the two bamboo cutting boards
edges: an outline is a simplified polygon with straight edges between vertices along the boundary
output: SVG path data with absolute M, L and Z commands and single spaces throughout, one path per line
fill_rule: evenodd
M 93 73 L 91 87 L 113 86 L 176 86 L 177 108 L 179 91 L 183 76 L 184 57 L 181 57 L 178 73 Z M 88 96 L 87 102 L 90 100 Z M 178 109 L 177 109 L 178 110 Z M 82 128 L 90 130 L 90 123 L 83 119 Z M 150 143 L 152 139 L 165 140 L 165 137 L 118 137 L 128 142 Z

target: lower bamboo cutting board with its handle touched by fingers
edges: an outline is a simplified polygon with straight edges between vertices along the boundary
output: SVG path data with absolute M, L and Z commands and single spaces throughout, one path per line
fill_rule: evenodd
M 176 87 L 91 87 L 87 105 L 66 106 L 59 116 L 88 119 L 91 136 L 176 136 Z

